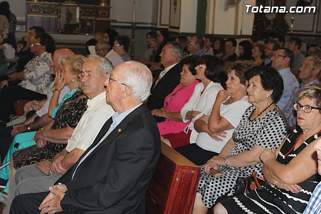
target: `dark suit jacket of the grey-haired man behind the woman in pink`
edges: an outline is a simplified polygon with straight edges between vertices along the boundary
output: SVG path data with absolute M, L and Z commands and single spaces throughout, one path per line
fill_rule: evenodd
M 147 108 L 149 110 L 161 109 L 164 106 L 164 99 L 174 88 L 180 83 L 182 72 L 182 64 L 179 62 L 171 70 L 169 70 L 161 80 L 156 84 L 155 88 L 150 91 Z M 151 86 L 153 88 L 154 85 Z

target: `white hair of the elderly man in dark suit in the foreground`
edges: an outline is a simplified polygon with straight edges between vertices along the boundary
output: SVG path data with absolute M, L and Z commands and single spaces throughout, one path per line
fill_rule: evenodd
M 129 69 L 124 69 L 121 72 L 123 83 L 130 86 L 131 95 L 141 101 L 145 101 L 150 95 L 152 83 L 151 71 L 148 67 L 140 62 L 127 61 Z

